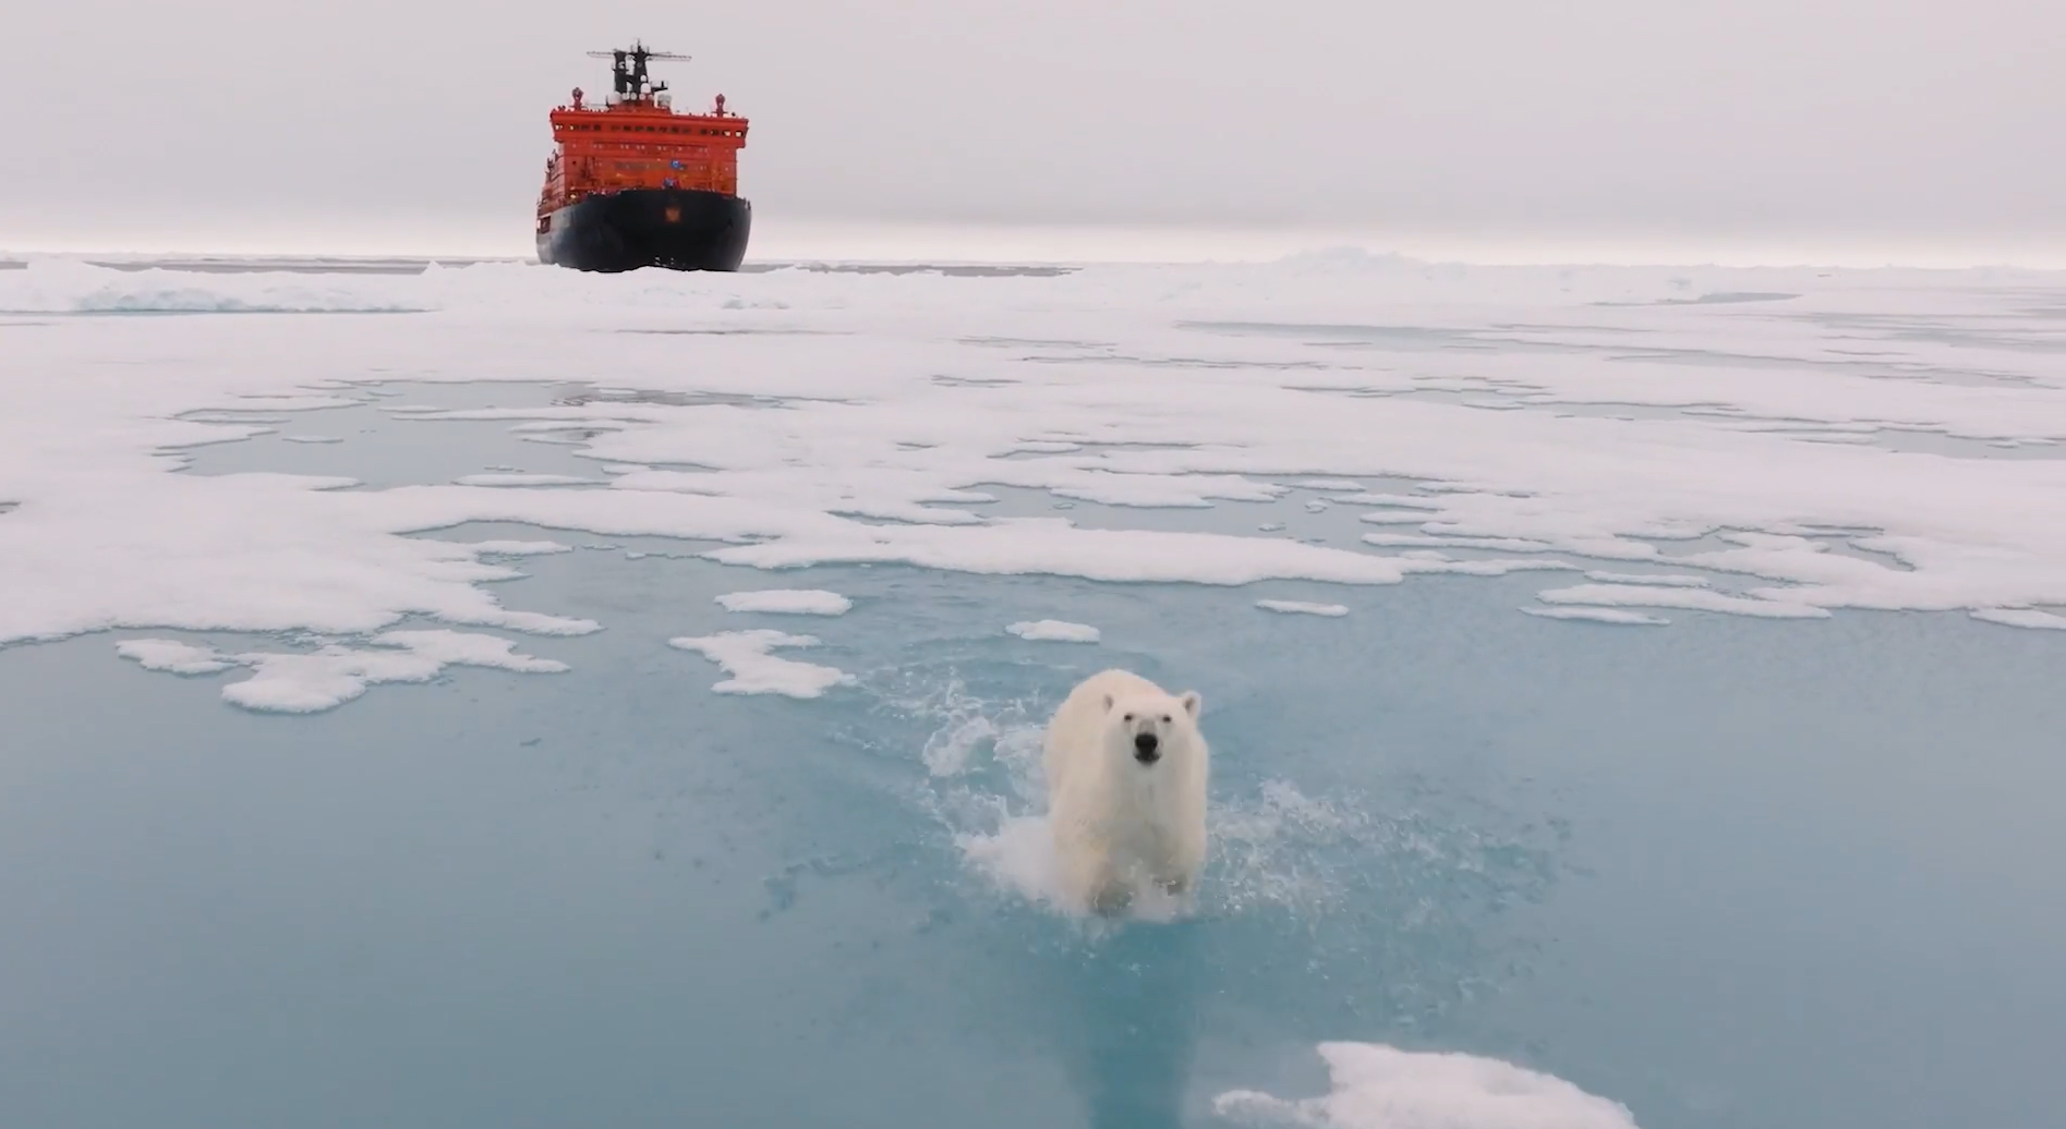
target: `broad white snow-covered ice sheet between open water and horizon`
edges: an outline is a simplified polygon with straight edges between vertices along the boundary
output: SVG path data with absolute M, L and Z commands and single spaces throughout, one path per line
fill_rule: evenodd
M 1690 301 L 1702 293 L 1779 297 Z M 0 310 L 41 318 L 10 336 L 0 374 L 0 497 L 14 504 L 0 514 L 0 644 L 109 627 L 368 638 L 409 615 L 605 625 L 502 607 L 523 596 L 492 582 L 519 574 L 438 535 L 467 522 L 678 539 L 756 570 L 1242 586 L 1541 568 L 1593 572 L 1545 584 L 1554 607 L 1965 611 L 2043 627 L 2043 609 L 2066 607 L 2066 378 L 2041 349 L 2060 293 L 2066 279 L 2029 270 L 1361 254 L 990 279 L 31 260 L 0 272 Z M 103 312 L 221 316 L 72 318 Z M 378 312 L 409 316 L 364 332 Z M 1397 347 L 1395 326 L 1457 349 Z M 570 372 L 609 384 L 502 407 L 364 394 L 395 374 L 486 386 Z M 1473 407 L 1488 400 L 1504 411 Z M 554 438 L 568 464 L 384 489 L 180 473 L 198 448 L 366 405 L 409 427 Z M 1861 442 L 1812 440 L 1828 433 Z M 1107 516 L 1014 516 L 1000 491 Z M 1339 522 L 1328 502 L 1382 530 L 1269 535 L 1287 512 Z M 1242 516 L 1124 516 L 1151 508 Z M 1748 582 L 1725 594 L 1673 568 Z

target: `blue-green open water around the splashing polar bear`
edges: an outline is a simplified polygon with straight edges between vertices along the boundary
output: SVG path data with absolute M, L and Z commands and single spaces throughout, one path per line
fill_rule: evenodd
M 494 423 L 343 417 L 283 427 L 343 444 L 192 473 L 591 471 Z M 1258 516 L 1306 518 L 1182 520 Z M 564 675 L 287 718 L 223 704 L 242 673 L 114 654 L 165 632 L 0 650 L 4 1121 L 1215 1125 L 1215 1094 L 1324 1092 L 1312 1046 L 1372 1040 L 1512 1059 L 1647 1129 L 2056 1123 L 2060 634 L 1558 623 L 1516 611 L 1541 576 L 1124 586 L 612 545 L 502 588 L 607 625 L 523 642 Z M 758 586 L 855 609 L 711 601 Z M 1004 634 L 1041 617 L 1103 642 Z M 719 696 L 667 646 L 756 625 L 857 683 Z M 1109 665 L 1204 693 L 1235 838 L 1194 921 L 1093 935 L 967 838 L 1027 811 L 983 735 L 1010 753 Z M 965 774 L 928 768 L 944 745 Z

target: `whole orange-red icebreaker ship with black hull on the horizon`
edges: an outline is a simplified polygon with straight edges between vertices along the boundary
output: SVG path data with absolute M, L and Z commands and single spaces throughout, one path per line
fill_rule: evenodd
M 746 118 L 717 95 L 707 114 L 680 114 L 651 60 L 688 60 L 632 43 L 589 52 L 612 60 L 603 105 L 576 87 L 552 111 L 552 157 L 537 196 L 537 258 L 576 270 L 738 270 L 752 231 L 740 196 Z

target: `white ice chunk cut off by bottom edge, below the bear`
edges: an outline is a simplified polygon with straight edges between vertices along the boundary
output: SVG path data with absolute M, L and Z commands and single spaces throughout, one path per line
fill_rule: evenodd
M 1628 1106 L 1498 1059 L 1378 1042 L 1322 1042 L 1320 1057 L 1328 1096 L 1231 1090 L 1213 1112 L 1308 1129 L 1636 1129 Z

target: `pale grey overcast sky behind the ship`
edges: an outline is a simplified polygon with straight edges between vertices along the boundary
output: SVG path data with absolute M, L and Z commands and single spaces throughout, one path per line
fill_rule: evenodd
M 10 8 L 0 248 L 525 252 L 545 111 L 607 91 L 583 52 L 634 35 L 696 56 L 659 68 L 678 105 L 723 91 L 752 120 L 756 241 L 828 221 L 2066 235 L 2066 8 L 2045 0 Z

